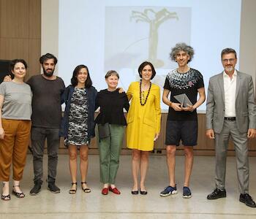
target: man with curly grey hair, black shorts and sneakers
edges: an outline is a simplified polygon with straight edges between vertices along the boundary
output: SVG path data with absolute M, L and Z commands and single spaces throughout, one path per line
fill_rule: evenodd
M 185 43 L 178 43 L 170 52 L 170 59 L 176 61 L 178 69 L 170 70 L 165 79 L 162 101 L 169 107 L 166 123 L 166 157 L 169 173 L 169 185 L 160 196 L 177 193 L 175 180 L 176 147 L 184 145 L 185 173 L 183 197 L 190 198 L 189 179 L 193 166 L 193 146 L 197 145 L 197 107 L 206 99 L 203 76 L 196 69 L 188 66 L 192 61 L 194 50 Z M 199 99 L 197 100 L 197 93 Z M 170 99 L 168 96 L 170 94 Z M 188 98 L 192 104 L 178 101 L 178 95 Z

